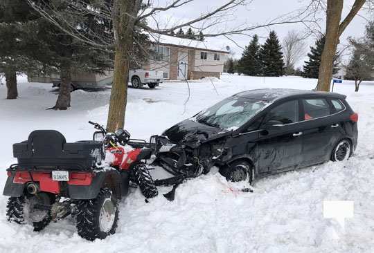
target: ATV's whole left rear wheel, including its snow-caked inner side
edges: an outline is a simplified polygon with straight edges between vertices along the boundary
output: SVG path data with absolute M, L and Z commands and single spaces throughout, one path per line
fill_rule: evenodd
M 6 210 L 8 221 L 18 224 L 32 223 L 34 231 L 44 229 L 51 222 L 51 211 L 36 209 L 35 205 L 51 205 L 51 198 L 48 194 L 33 195 L 28 198 L 10 197 Z

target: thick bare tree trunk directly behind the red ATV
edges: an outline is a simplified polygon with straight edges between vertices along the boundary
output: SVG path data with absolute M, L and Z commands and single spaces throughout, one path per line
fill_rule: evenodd
M 130 70 L 129 54 L 133 47 L 135 18 L 140 6 L 139 0 L 114 0 L 113 3 L 116 56 L 114 57 L 114 76 L 107 120 L 107 130 L 110 132 L 122 128 L 125 124 L 127 77 Z

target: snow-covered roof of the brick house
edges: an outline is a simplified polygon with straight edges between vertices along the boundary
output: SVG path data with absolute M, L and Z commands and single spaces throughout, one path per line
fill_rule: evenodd
M 194 48 L 218 53 L 229 53 L 229 45 L 225 45 L 224 43 L 222 43 L 222 41 L 218 41 L 213 38 L 204 38 L 204 41 L 198 41 L 195 39 L 155 35 L 154 37 L 151 36 L 150 39 L 154 43 L 165 46 L 178 46 L 182 48 Z

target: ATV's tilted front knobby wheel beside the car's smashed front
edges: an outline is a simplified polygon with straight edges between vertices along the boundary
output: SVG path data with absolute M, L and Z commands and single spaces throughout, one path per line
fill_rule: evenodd
M 154 180 L 150 176 L 150 171 L 143 162 L 138 163 L 132 167 L 133 181 L 139 185 L 141 193 L 145 198 L 154 198 L 159 194 L 157 187 L 154 185 Z

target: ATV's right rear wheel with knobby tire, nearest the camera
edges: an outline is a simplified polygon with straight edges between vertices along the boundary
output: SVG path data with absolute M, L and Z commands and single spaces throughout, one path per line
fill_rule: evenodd
M 80 200 L 76 216 L 78 234 L 89 241 L 114 234 L 118 222 L 118 200 L 109 188 L 100 189 L 91 200 Z

